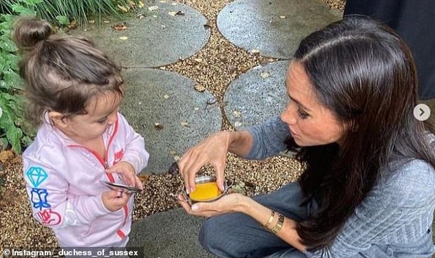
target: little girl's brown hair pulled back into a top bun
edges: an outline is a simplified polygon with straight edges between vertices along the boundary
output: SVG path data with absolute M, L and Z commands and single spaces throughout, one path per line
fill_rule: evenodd
M 54 35 L 52 25 L 23 17 L 15 23 L 14 42 L 23 52 L 19 63 L 30 100 L 28 115 L 34 125 L 45 111 L 66 116 L 86 114 L 97 94 L 123 94 L 120 67 L 89 39 Z

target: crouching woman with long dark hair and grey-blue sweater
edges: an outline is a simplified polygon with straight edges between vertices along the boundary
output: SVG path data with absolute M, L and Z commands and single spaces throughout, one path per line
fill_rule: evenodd
M 280 118 L 218 132 L 184 153 L 186 189 L 212 164 L 222 189 L 226 152 L 263 159 L 297 149 L 307 169 L 274 193 L 180 204 L 211 217 L 200 231 L 220 257 L 430 257 L 435 154 L 414 118 L 416 69 L 390 28 L 348 17 L 301 41 Z

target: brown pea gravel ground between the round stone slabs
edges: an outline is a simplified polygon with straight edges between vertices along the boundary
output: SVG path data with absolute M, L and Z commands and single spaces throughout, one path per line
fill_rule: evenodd
M 343 0 L 322 0 L 331 8 L 343 10 Z M 206 46 L 194 56 L 173 65 L 161 67 L 178 72 L 196 80 L 206 87 L 222 103 L 226 87 L 237 76 L 262 63 L 275 61 L 235 47 L 217 31 L 216 17 L 230 0 L 180 0 L 199 12 L 209 21 L 211 37 Z M 231 53 L 229 55 L 228 53 Z M 198 63 L 195 58 L 201 58 Z M 228 65 L 231 63 L 231 65 Z M 224 114 L 222 112 L 222 114 Z M 222 118 L 223 130 L 233 131 L 228 120 Z M 44 228 L 33 218 L 30 201 L 25 193 L 22 179 L 21 157 L 13 157 L 10 152 L 0 153 L 0 248 L 15 247 L 56 247 L 57 241 L 50 228 Z M 264 161 L 247 161 L 228 155 L 226 178 L 235 182 L 234 191 L 246 195 L 269 193 L 287 182 L 297 180 L 303 166 L 297 160 L 278 156 Z M 205 167 L 204 174 L 213 173 Z M 134 221 L 159 211 L 167 211 L 179 205 L 175 195 L 182 189 L 182 180 L 176 173 L 143 176 L 145 190 L 136 195 Z M 2 185 L 0 181 L 0 186 Z M 0 255 L 2 257 L 3 254 Z

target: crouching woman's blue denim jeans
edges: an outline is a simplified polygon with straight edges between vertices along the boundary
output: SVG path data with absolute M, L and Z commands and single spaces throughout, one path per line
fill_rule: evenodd
M 297 182 L 287 184 L 268 195 L 253 198 L 295 221 L 306 219 L 310 212 L 318 208 L 314 201 L 307 206 L 299 206 L 302 194 Z M 425 239 L 427 241 L 417 247 L 413 245 L 413 248 L 427 250 L 426 255 L 410 256 L 403 245 L 389 245 L 372 246 L 350 258 L 431 257 L 432 234 L 428 234 Z M 229 213 L 207 219 L 200 230 L 199 240 L 207 251 L 218 257 L 306 257 L 303 252 L 269 233 L 255 219 L 243 213 Z

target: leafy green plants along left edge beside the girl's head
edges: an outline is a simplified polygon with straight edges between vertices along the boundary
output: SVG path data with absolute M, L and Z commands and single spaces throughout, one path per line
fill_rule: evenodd
M 12 147 L 15 153 L 21 153 L 21 146 L 28 146 L 34 136 L 34 129 L 24 118 L 23 82 L 11 33 L 17 15 L 34 16 L 32 5 L 39 1 L 23 0 L 11 6 L 12 14 L 0 14 L 0 150 Z

